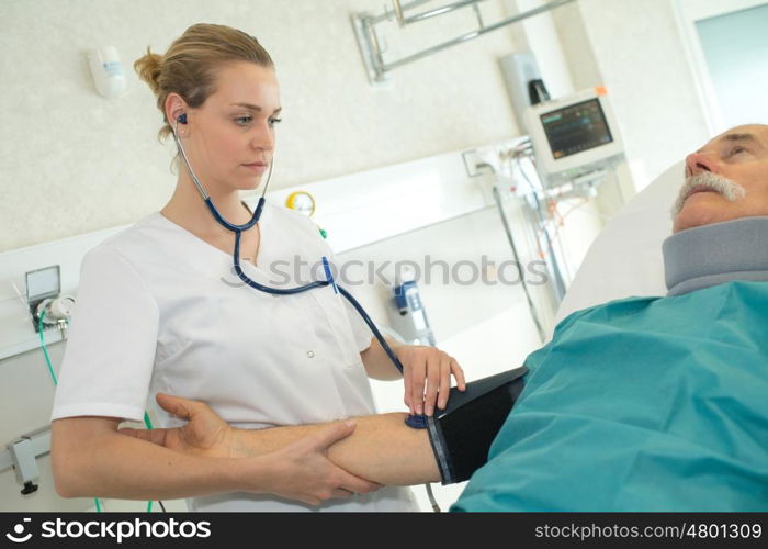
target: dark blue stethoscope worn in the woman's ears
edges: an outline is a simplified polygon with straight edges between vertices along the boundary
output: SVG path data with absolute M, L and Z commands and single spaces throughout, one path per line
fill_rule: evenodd
M 205 192 L 205 188 L 203 184 L 200 182 L 197 179 L 197 176 L 194 173 L 194 170 L 192 169 L 192 165 L 190 164 L 189 158 L 187 157 L 187 152 L 184 150 L 183 145 L 181 144 L 181 139 L 179 138 L 179 124 L 187 124 L 187 113 L 180 114 L 179 117 L 176 119 L 176 124 L 173 127 L 173 139 L 176 141 L 176 145 L 179 148 L 179 153 L 181 154 L 181 158 L 184 161 L 184 165 L 187 166 L 187 170 L 189 171 L 190 176 L 192 177 L 192 181 L 194 182 L 194 186 L 197 188 L 197 192 L 202 197 L 203 201 L 208 208 L 208 211 L 211 214 L 214 216 L 216 222 L 225 227 L 226 229 L 235 233 L 235 250 L 233 253 L 233 261 L 235 262 L 235 272 L 237 276 L 248 284 L 249 287 L 253 288 L 255 290 L 259 290 L 260 292 L 269 293 L 272 295 L 293 295 L 296 293 L 303 293 L 309 290 L 313 290 L 315 288 L 326 288 L 328 285 L 334 288 L 335 293 L 341 293 L 347 301 L 350 302 L 350 304 L 354 307 L 354 310 L 360 314 L 360 316 L 365 321 L 365 324 L 368 324 L 368 327 L 371 329 L 373 333 L 374 337 L 379 343 L 381 344 L 382 348 L 386 352 L 386 356 L 389 357 L 389 360 L 392 360 L 392 363 L 395 365 L 395 368 L 403 373 L 403 365 L 400 363 L 399 359 L 395 355 L 395 352 L 392 350 L 389 347 L 389 344 L 386 343 L 386 339 L 382 336 L 381 332 L 379 332 L 379 328 L 376 328 L 376 325 L 373 324 L 373 321 L 371 317 L 368 315 L 365 310 L 362 307 L 360 303 L 358 303 L 358 300 L 355 300 L 352 294 L 350 294 L 347 290 L 341 288 L 336 283 L 334 280 L 334 276 L 330 271 L 330 266 L 328 264 L 328 258 L 323 257 L 323 268 L 325 270 L 325 276 L 326 280 L 317 280 L 315 282 L 312 282 L 309 284 L 305 285 L 300 285 L 296 288 L 289 288 L 285 290 L 281 290 L 278 288 L 269 288 L 267 285 L 260 284 L 256 282 L 255 280 L 251 280 L 248 274 L 245 273 L 242 270 L 242 267 L 240 267 L 240 237 L 242 236 L 244 231 L 248 231 L 251 228 L 253 225 L 256 225 L 259 222 L 259 219 L 261 217 L 261 212 L 264 208 L 264 194 L 267 193 L 267 188 L 269 187 L 270 180 L 272 179 L 272 167 L 274 166 L 274 157 L 272 158 L 272 161 L 270 161 L 269 166 L 269 172 L 267 173 L 267 183 L 264 184 L 264 189 L 261 192 L 261 198 L 259 198 L 259 203 L 256 206 L 256 210 L 253 210 L 253 215 L 251 216 L 250 221 L 244 225 L 235 225 L 233 223 L 229 223 L 227 220 L 224 219 L 224 216 L 216 210 L 216 206 L 213 204 L 213 201 L 211 200 L 211 197 L 208 195 L 207 192 Z M 417 429 L 422 429 L 427 427 L 427 419 L 426 416 L 423 415 L 409 415 L 405 423 L 413 428 Z

